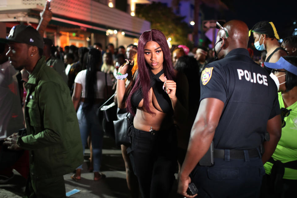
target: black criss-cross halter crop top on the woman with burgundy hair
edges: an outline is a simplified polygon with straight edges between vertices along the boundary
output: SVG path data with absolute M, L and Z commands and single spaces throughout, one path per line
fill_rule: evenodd
M 173 111 L 172 104 L 168 94 L 162 89 L 164 82 L 159 78 L 164 73 L 163 69 L 156 75 L 150 71 L 150 84 L 153 87 L 158 104 L 164 113 L 170 113 Z M 131 97 L 131 104 L 134 107 L 138 107 L 140 101 L 143 99 L 142 90 L 139 88 Z

